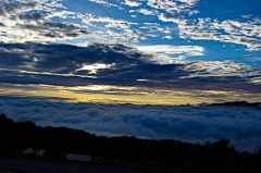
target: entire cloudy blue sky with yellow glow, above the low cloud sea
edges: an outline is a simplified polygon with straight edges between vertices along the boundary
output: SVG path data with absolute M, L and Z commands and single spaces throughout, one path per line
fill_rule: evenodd
M 0 95 L 258 102 L 260 8 L 259 0 L 1 0 Z

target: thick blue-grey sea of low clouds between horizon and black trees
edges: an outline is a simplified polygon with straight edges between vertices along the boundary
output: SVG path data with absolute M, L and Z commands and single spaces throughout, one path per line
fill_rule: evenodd
M 229 138 L 239 151 L 261 146 L 260 110 L 246 107 L 62 103 L 32 99 L 0 100 L 14 121 L 67 126 L 97 135 L 134 135 L 200 143 Z

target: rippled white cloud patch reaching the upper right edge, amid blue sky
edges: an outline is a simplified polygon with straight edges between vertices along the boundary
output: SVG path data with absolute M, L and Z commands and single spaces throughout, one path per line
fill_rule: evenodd
M 248 51 L 259 51 L 261 48 L 260 20 L 248 22 L 239 20 L 197 18 L 196 21 L 183 18 L 172 13 L 161 13 L 159 20 L 173 22 L 178 25 L 179 37 L 195 40 L 216 40 L 247 46 Z

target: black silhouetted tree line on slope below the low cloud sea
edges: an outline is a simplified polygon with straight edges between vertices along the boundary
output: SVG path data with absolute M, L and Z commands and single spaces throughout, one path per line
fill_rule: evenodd
M 229 165 L 237 172 L 261 171 L 261 147 L 253 155 L 240 153 L 229 146 L 228 139 L 199 145 L 133 136 L 104 137 L 67 127 L 40 127 L 32 121 L 14 122 L 5 114 L 0 115 L 0 133 L 1 155 L 34 148 L 47 150 L 47 156 L 69 152 L 94 156 L 99 161 L 110 163 L 164 168 L 181 164 Z

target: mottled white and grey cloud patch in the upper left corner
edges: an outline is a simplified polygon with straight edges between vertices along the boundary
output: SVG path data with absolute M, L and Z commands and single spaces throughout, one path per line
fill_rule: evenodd
M 24 1 L 22 1 L 24 3 Z M 76 15 L 73 12 L 60 10 L 54 3 L 3 3 L 0 9 L 0 23 L 2 23 L 0 40 L 4 42 L 24 41 L 54 41 L 88 37 L 87 27 L 76 23 L 58 23 L 51 18 L 64 18 Z M 46 13 L 42 13 L 45 11 Z M 66 13 L 66 14 L 65 14 Z

